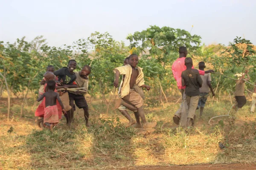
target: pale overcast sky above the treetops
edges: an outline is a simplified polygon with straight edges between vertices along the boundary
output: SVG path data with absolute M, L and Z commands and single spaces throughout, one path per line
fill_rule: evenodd
M 125 41 L 150 25 L 181 28 L 202 43 L 227 45 L 236 36 L 256 44 L 256 0 L 0 0 L 0 40 L 43 35 L 72 44 L 94 31 Z

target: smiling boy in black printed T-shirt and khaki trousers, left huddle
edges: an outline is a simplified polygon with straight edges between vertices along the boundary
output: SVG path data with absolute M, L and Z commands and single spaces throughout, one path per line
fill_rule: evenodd
M 76 74 L 73 72 L 76 69 L 76 60 L 70 59 L 68 66 L 54 71 L 53 74 L 58 76 L 58 81 L 62 82 L 63 86 L 66 88 L 77 88 L 76 85 Z M 67 91 L 63 91 L 60 96 L 61 102 L 64 105 L 64 110 L 67 112 L 64 116 L 67 119 L 67 125 L 70 126 L 74 116 L 74 110 L 70 106 L 69 95 Z

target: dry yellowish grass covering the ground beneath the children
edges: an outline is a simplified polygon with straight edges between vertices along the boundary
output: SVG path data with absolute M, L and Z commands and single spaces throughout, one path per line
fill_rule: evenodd
M 73 127 L 66 127 L 62 121 L 51 133 L 35 125 L 33 112 L 36 105 L 31 100 L 25 108 L 25 116 L 20 118 L 19 102 L 13 102 L 12 122 L 9 123 L 6 122 L 5 103 L 0 104 L 0 167 L 3 169 L 94 170 L 256 161 L 256 116 L 249 113 L 249 105 L 236 114 L 234 123 L 233 120 L 219 122 L 218 119 L 212 126 L 207 124 L 209 118 L 226 114 L 230 104 L 223 100 L 208 105 L 196 128 L 187 131 L 172 122 L 172 114 L 179 104 L 169 103 L 166 108 L 148 107 L 145 108 L 147 119 L 157 121 L 157 127 L 138 130 L 125 129 L 123 123 L 126 121 L 121 114 L 111 110 L 106 115 L 105 106 L 92 100 L 90 105 L 96 110 L 90 111 L 92 127 L 84 126 L 79 111 L 76 115 L 79 119 Z M 219 142 L 224 143 L 224 150 L 218 147 Z

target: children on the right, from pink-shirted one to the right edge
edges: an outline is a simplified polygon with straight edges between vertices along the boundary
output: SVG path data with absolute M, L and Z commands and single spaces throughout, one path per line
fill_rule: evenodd
M 182 127 L 191 127 L 195 123 L 195 111 L 200 108 L 200 117 L 203 115 L 204 106 L 209 96 L 209 89 L 212 92 L 212 96 L 215 93 L 211 85 L 211 76 L 209 73 L 214 72 L 213 70 L 204 71 L 205 63 L 199 62 L 199 70 L 194 69 L 191 58 L 186 58 L 187 50 L 186 47 L 179 48 L 180 57 L 173 63 L 172 72 L 177 86 L 182 95 L 182 103 L 180 108 L 175 113 L 173 121 L 177 125 Z M 186 66 L 186 67 L 185 67 Z M 245 78 L 245 75 L 247 78 Z M 244 74 L 239 76 L 236 81 L 235 99 L 236 103 L 233 108 L 238 111 L 246 103 L 244 96 L 245 81 L 250 80 L 248 70 Z M 256 84 L 255 84 L 256 85 Z M 256 104 L 256 87 L 254 88 L 253 100 L 251 112 L 254 113 Z

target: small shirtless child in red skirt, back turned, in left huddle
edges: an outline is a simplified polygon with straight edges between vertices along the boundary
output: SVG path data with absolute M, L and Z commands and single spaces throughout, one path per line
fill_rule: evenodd
M 39 102 L 43 98 L 45 98 L 44 125 L 46 127 L 49 127 L 51 131 L 52 131 L 53 123 L 59 122 L 58 107 L 56 105 L 56 100 L 58 100 L 62 110 L 64 111 L 64 106 L 61 102 L 59 94 L 54 92 L 55 88 L 56 88 L 55 81 L 50 80 L 49 82 L 47 82 L 48 91 L 42 94 L 41 97 L 37 99 L 37 101 Z

